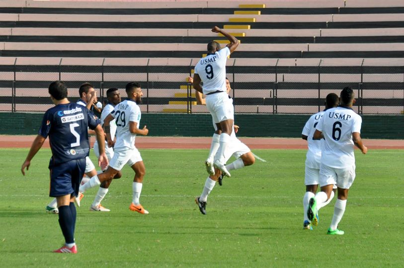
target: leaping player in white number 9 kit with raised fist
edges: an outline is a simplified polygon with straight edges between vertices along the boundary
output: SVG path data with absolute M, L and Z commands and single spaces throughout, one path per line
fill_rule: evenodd
M 221 33 L 227 37 L 230 43 L 223 49 L 220 44 L 211 41 L 208 43 L 208 54 L 195 66 L 193 87 L 206 95 L 206 107 L 212 115 L 213 122 L 222 131 L 219 139 L 219 148 L 214 157 L 214 165 L 226 176 L 230 173 L 226 168 L 225 154 L 230 150 L 230 135 L 234 125 L 234 107 L 226 93 L 226 61 L 227 57 L 239 46 L 239 40 L 219 27 L 212 28 L 212 32 Z M 201 83 L 203 82 L 203 88 Z

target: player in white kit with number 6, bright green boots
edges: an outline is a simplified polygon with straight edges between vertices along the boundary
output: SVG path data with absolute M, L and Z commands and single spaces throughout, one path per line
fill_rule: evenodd
M 335 201 L 334 215 L 327 231 L 330 235 L 344 234 L 337 227 L 345 212 L 349 188 L 355 179 L 353 145 L 363 154 L 368 151 L 360 137 L 362 118 L 352 110 L 354 97 L 353 90 L 345 87 L 340 94 L 340 105 L 323 114 L 313 136 L 314 139 L 324 138 L 325 142 L 320 165 L 321 192 L 310 199 L 307 214 L 309 220 L 315 220 L 318 209 L 330 198 L 332 186 L 336 184 L 338 199 Z

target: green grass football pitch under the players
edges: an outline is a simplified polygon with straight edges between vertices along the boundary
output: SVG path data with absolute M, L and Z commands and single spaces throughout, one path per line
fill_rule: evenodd
M 81 201 L 77 255 L 51 253 L 64 239 L 58 216 L 44 209 L 50 150 L 23 177 L 27 152 L 0 149 L 1 267 L 403 267 L 404 150 L 356 153 L 343 236 L 326 235 L 334 201 L 320 210 L 319 226 L 302 229 L 305 150 L 254 150 L 268 162 L 216 185 L 207 215 L 194 203 L 207 150 L 141 150 L 141 203 L 150 214 L 128 209 L 133 172 L 125 167 L 102 202 L 111 212 L 88 210 L 97 189 Z

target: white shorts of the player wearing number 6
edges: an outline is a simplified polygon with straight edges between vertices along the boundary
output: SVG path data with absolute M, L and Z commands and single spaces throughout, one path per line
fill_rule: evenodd
M 333 168 L 320 165 L 320 186 L 335 184 L 338 188 L 349 189 L 355 180 L 355 164 L 349 168 Z

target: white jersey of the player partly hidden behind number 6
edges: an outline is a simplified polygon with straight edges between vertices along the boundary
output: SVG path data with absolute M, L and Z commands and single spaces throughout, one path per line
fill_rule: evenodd
M 309 150 L 306 153 L 306 166 L 309 168 L 320 169 L 321 151 L 323 149 L 324 140 L 313 139 L 313 134 L 316 131 L 317 124 L 323 117 L 324 111 L 312 115 L 306 122 L 302 134 L 307 136 L 307 146 Z

